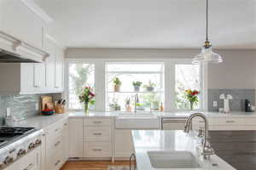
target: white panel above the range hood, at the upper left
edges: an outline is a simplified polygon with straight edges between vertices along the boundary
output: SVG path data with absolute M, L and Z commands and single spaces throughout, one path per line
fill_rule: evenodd
M 2 31 L 37 48 L 43 48 L 44 26 L 37 14 L 20 0 L 3 1 Z

